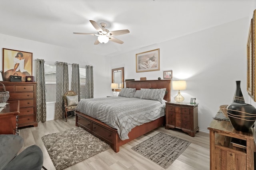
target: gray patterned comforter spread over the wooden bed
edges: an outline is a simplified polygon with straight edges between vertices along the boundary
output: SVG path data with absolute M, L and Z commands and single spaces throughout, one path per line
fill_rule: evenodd
M 165 102 L 120 96 L 82 99 L 76 111 L 117 129 L 120 139 L 126 140 L 132 128 L 164 116 Z

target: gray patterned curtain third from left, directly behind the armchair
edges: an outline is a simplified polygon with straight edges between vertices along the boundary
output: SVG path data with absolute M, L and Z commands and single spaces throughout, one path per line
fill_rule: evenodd
M 78 101 L 80 101 L 80 76 L 79 64 L 72 64 L 71 90 L 78 94 Z

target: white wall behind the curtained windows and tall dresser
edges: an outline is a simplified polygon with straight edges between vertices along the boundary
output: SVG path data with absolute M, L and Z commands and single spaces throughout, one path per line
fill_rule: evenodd
M 61 61 L 69 64 L 77 63 L 85 66 L 94 66 L 94 97 L 108 96 L 111 94 L 111 72 L 106 70 L 106 59 L 102 56 L 95 56 L 88 54 L 86 49 L 77 51 L 75 49 L 68 49 L 58 47 L 55 45 L 30 41 L 18 37 L 0 34 L 0 48 L 14 49 L 17 51 L 26 51 L 33 53 L 33 72 L 32 75 L 36 77 L 36 59 L 44 59 L 46 62 Z M 69 66 L 71 67 L 71 65 Z M 0 60 L 0 70 L 2 70 L 2 60 Z M 108 75 L 110 74 L 110 75 Z M 110 80 L 109 80 L 110 76 Z M 71 81 L 71 77 L 70 77 Z M 108 92 L 109 91 L 109 92 Z M 46 120 L 54 119 L 54 104 L 47 104 L 46 106 Z

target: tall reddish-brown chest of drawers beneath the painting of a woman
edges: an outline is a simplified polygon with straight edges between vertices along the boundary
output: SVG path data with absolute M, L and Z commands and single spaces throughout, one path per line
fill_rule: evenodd
M 37 126 L 36 121 L 36 82 L 2 82 L 12 100 L 20 101 L 18 128 Z

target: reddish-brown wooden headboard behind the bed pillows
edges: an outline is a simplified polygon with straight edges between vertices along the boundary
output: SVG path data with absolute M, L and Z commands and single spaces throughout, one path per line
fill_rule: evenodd
M 171 101 L 171 81 L 168 80 L 132 80 L 125 81 L 127 88 L 136 88 L 136 90 L 140 90 L 141 88 L 166 88 L 168 93 L 164 96 L 164 100 L 167 102 Z

